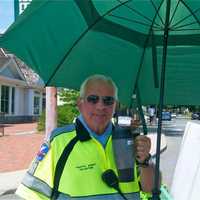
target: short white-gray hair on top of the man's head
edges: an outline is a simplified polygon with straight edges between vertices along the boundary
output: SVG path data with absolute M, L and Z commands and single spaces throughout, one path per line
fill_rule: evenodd
M 104 82 L 108 83 L 109 85 L 111 85 L 115 92 L 114 97 L 116 100 L 118 100 L 118 88 L 117 88 L 115 82 L 109 76 L 105 76 L 102 74 L 94 74 L 92 76 L 89 76 L 87 79 L 85 79 L 83 81 L 83 83 L 81 84 L 81 87 L 80 87 L 80 97 L 81 98 L 85 97 L 85 91 L 86 91 L 87 85 L 90 81 L 104 81 Z

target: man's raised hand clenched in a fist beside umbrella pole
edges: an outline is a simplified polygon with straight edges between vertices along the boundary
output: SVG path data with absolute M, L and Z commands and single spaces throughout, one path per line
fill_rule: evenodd
M 149 157 L 149 152 L 151 149 L 151 140 L 144 135 L 139 135 L 135 138 L 134 143 L 136 160 L 139 163 L 143 163 L 145 159 Z

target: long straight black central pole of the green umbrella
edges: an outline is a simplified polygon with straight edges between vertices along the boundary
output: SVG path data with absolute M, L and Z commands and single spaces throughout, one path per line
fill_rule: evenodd
M 155 179 L 153 188 L 153 200 L 159 200 L 160 194 L 160 143 L 161 143 L 161 130 L 162 130 L 162 110 L 164 104 L 164 88 L 165 88 L 165 69 L 166 69 L 166 58 L 167 58 L 167 42 L 169 35 L 169 17 L 170 17 L 170 4 L 171 0 L 167 0 L 166 7 L 166 19 L 164 28 L 164 39 L 163 39 L 163 58 L 161 68 L 161 84 L 160 84 L 160 99 L 159 99 L 159 111 L 158 111 L 158 128 L 157 128 L 157 146 L 156 146 L 156 166 L 155 166 Z

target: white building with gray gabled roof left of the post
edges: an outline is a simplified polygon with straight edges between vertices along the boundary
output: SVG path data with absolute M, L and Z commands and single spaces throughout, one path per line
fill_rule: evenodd
M 0 120 L 33 121 L 45 106 L 44 83 L 31 69 L 0 49 Z

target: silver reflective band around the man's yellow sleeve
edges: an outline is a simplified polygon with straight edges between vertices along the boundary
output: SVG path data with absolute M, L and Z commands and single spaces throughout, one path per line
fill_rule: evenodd
M 44 181 L 35 176 L 32 176 L 29 173 L 26 173 L 25 177 L 22 180 L 22 184 L 31 190 L 39 192 L 47 197 L 51 197 L 52 188 Z

